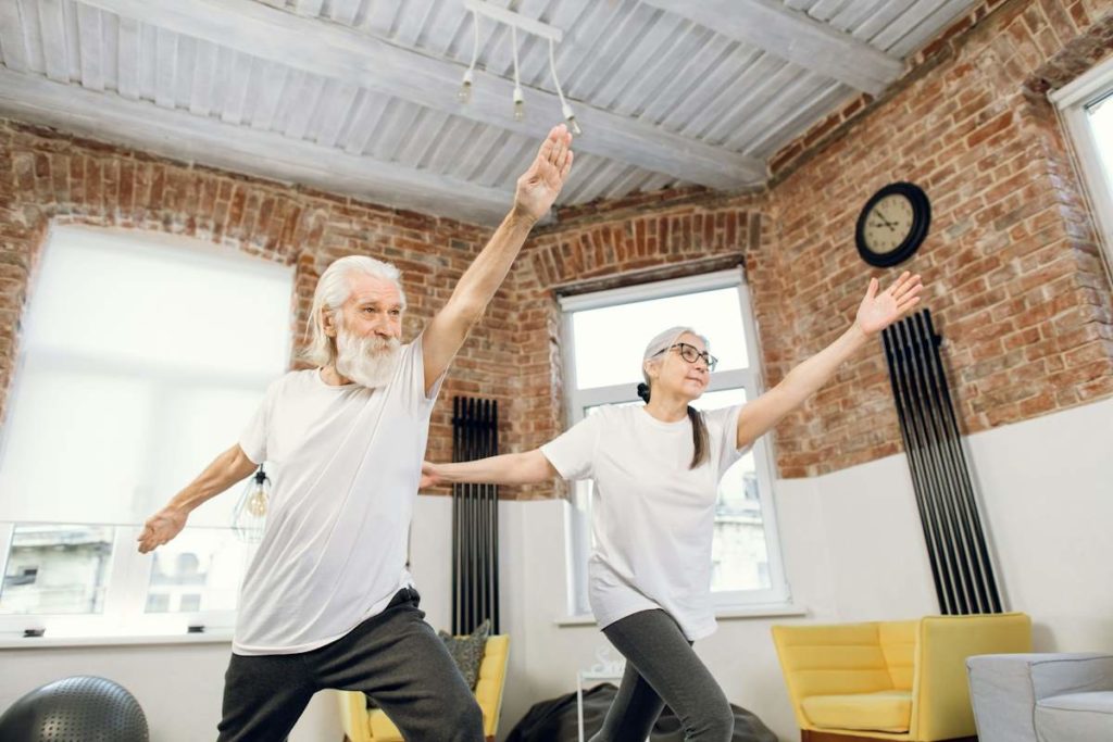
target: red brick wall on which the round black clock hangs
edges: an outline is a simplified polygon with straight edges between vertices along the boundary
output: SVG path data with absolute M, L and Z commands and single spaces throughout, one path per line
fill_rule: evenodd
M 775 186 L 768 247 L 797 300 L 764 327 L 770 380 L 853 316 L 868 273 L 853 245 L 858 210 L 886 182 L 912 180 L 932 198 L 932 234 L 900 268 L 930 284 L 925 304 L 946 338 L 964 431 L 1113 394 L 1109 278 L 1054 110 L 1033 93 L 1061 56 L 1110 38 L 1113 13 L 1106 3 L 1096 18 L 1096 4 L 1001 4 Z M 889 280 L 897 269 L 876 273 Z M 880 352 L 864 352 L 780 426 L 781 475 L 897 451 L 890 397 Z

